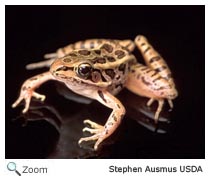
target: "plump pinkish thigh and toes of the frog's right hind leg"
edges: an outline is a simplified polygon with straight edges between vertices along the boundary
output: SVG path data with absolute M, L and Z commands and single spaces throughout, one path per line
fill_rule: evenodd
M 151 106 L 155 100 L 158 101 L 158 108 L 154 116 L 157 122 L 164 105 L 164 99 L 159 96 L 161 93 L 159 90 L 168 82 L 155 70 L 142 64 L 132 65 L 130 68 L 125 87 L 139 96 L 150 98 L 147 106 Z

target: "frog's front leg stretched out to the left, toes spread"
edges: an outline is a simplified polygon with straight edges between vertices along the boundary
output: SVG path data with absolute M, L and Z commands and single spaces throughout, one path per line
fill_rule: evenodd
M 25 108 L 22 112 L 26 113 L 29 109 L 32 96 L 40 99 L 41 101 L 44 101 L 45 95 L 41 95 L 34 90 L 46 81 L 53 79 L 54 77 L 50 72 L 45 72 L 26 80 L 21 87 L 19 98 L 12 104 L 12 107 L 15 108 L 22 100 L 25 100 Z

